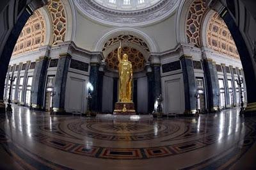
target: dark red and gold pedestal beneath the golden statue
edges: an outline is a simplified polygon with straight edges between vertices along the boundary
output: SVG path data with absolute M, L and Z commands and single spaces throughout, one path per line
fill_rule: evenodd
M 113 114 L 135 115 L 134 103 L 116 102 Z

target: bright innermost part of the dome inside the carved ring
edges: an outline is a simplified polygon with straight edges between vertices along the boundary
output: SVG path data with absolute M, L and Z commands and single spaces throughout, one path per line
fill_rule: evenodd
M 96 3 L 113 10 L 141 10 L 158 3 L 160 0 L 94 0 Z

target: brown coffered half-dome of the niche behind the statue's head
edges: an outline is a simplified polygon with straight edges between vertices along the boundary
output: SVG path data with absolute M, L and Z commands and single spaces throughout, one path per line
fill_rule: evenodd
M 122 56 L 126 53 L 129 56 L 129 61 L 132 63 L 133 72 L 140 72 L 144 69 L 146 63 L 143 54 L 132 47 L 122 47 Z M 109 70 L 118 70 L 119 61 L 117 59 L 117 49 L 108 54 L 106 58 L 107 68 Z

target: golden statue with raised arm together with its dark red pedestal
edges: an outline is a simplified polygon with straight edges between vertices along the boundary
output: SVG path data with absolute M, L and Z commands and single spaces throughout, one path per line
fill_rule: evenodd
M 114 114 L 135 114 L 132 102 L 132 63 L 128 60 L 128 54 L 122 54 L 122 44 L 118 47 L 118 102 L 115 104 Z

